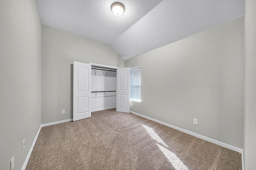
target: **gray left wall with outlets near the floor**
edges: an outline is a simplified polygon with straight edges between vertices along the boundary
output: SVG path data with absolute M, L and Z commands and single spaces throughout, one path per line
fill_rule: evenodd
M 0 1 L 0 110 L 0 169 L 10 170 L 15 156 L 18 170 L 41 125 L 41 21 L 34 0 Z

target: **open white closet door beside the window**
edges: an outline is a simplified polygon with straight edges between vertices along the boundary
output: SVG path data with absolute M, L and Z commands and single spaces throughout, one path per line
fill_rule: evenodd
M 116 111 L 130 113 L 130 68 L 116 70 Z

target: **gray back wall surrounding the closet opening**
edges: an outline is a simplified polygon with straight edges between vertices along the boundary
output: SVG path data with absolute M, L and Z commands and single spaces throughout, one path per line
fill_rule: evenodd
M 73 61 L 124 67 L 110 45 L 42 25 L 42 123 L 73 117 Z

